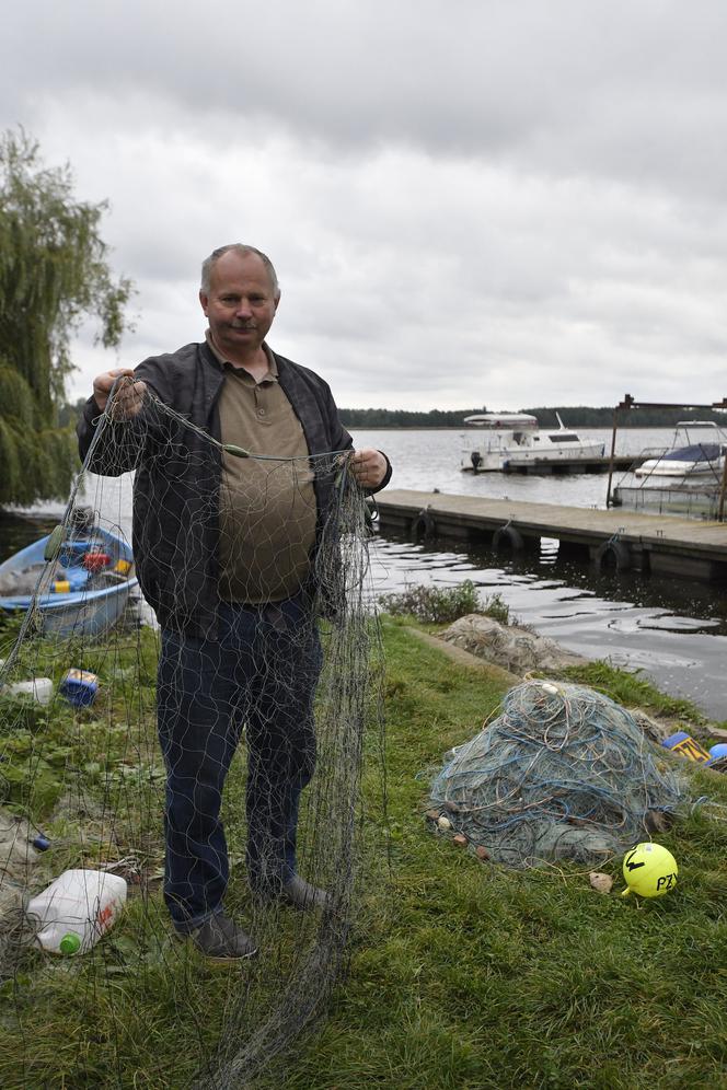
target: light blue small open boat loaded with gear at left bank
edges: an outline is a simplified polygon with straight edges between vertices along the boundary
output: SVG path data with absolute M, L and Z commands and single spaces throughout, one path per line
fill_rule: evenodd
M 101 636 L 138 585 L 131 549 L 108 530 L 76 522 L 47 560 L 54 534 L 0 564 L 0 612 L 34 608 L 45 635 Z

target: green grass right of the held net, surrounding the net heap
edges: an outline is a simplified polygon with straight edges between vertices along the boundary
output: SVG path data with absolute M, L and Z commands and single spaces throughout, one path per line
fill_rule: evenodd
M 370 878 L 351 971 L 321 1032 L 267 1087 L 727 1085 L 727 824 L 697 811 L 659 837 L 673 894 L 622 900 L 576 869 L 519 873 L 425 831 L 426 778 L 497 706 L 501 682 L 384 624 L 392 866 Z M 690 714 L 638 679 L 578 680 L 651 711 Z M 696 773 L 695 796 L 727 780 Z

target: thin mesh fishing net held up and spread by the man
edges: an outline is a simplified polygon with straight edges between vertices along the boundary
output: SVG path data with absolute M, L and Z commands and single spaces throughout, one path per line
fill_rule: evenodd
M 370 518 L 347 452 L 223 449 L 149 390 L 131 419 L 114 404 L 60 527 L 0 570 L 0 596 L 18 608 L 0 622 L 0 1085 L 242 1087 L 325 1010 L 345 970 L 362 754 L 382 753 Z M 162 615 L 194 622 L 186 641 L 160 633 L 139 594 L 134 473 L 142 484 L 135 553 L 148 550 L 155 580 L 145 593 Z M 176 512 L 171 536 L 160 536 L 162 509 Z M 205 571 L 220 563 L 208 534 L 217 520 L 230 589 L 246 603 L 242 622 L 228 608 L 224 633 L 210 627 L 214 603 L 204 599 Z M 299 587 L 295 607 L 281 607 Z M 240 624 L 256 626 L 254 653 Z M 161 742 L 157 688 L 177 722 L 166 729 L 160 714 Z M 216 766 L 230 757 L 224 842 L 203 819 Z M 182 818 L 168 777 L 184 798 Z M 323 908 L 297 911 L 277 896 L 291 807 L 297 868 L 326 891 Z M 224 909 L 254 938 L 256 958 L 214 967 L 180 938 L 163 895 L 165 822 L 172 854 L 196 845 L 205 857 L 198 872 L 187 867 L 187 885 L 206 890 L 209 880 L 210 897 L 227 855 Z M 69 869 L 123 878 L 127 897 L 99 941 L 64 956 L 38 947 L 41 925 L 26 909 Z M 183 886 L 177 873 L 180 911 Z

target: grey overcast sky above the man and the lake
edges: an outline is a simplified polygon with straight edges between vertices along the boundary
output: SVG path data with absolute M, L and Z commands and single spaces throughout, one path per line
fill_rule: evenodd
M 138 294 L 69 393 L 201 339 L 249 242 L 342 406 L 727 396 L 725 0 L 35 0 L 0 127 L 69 161 Z

